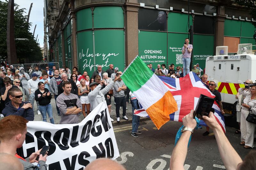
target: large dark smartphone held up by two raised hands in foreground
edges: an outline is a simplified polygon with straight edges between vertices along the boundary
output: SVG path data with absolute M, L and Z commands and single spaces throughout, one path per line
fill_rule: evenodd
M 202 119 L 203 116 L 209 116 L 209 113 L 214 110 L 212 108 L 213 103 L 214 103 L 213 98 L 210 98 L 201 94 L 196 105 L 194 118 L 197 117 L 199 119 Z

